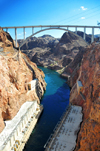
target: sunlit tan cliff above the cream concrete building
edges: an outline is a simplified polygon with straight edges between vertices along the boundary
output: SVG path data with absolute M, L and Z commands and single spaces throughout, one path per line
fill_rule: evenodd
M 4 50 L 0 52 L 1 132 L 5 126 L 4 121 L 12 119 L 24 102 L 34 100 L 40 102 L 46 83 L 42 70 L 38 69 L 25 54 L 13 48 L 12 38 L 2 29 L 0 46 Z M 36 91 L 28 89 L 28 83 L 34 79 L 38 79 Z

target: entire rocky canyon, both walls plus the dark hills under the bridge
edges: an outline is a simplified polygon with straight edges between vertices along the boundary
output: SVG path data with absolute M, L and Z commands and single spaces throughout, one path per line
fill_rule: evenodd
M 4 121 L 12 119 L 24 102 L 40 103 L 46 90 L 45 75 L 37 68 L 41 65 L 68 79 L 70 103 L 82 107 L 83 121 L 74 151 L 99 151 L 100 42 L 88 45 L 71 32 L 64 33 L 61 39 L 42 38 L 33 37 L 34 48 L 29 40 L 22 47 L 22 53 L 15 48 L 11 36 L 0 28 L 0 50 L 3 50 L 0 51 L 0 132 L 5 127 Z M 35 79 L 38 79 L 37 91 L 29 90 L 28 83 Z M 77 91 L 77 81 L 82 83 L 81 93 Z

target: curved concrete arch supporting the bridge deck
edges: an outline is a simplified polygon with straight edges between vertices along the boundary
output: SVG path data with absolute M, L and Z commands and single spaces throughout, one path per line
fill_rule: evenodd
M 51 27 L 50 27 L 50 28 L 46 28 L 46 29 L 41 29 L 41 30 L 35 32 L 34 34 L 32 34 L 31 36 L 29 36 L 27 39 L 25 39 L 25 40 L 20 44 L 19 49 L 20 49 L 31 37 L 33 37 L 34 35 L 36 35 L 36 34 L 38 34 L 38 33 L 40 33 L 40 32 L 43 32 L 43 31 L 46 31 L 46 30 L 52 30 L 52 29 L 64 30 L 64 31 L 66 31 L 66 32 L 70 32 L 70 33 L 75 34 L 74 32 L 72 32 L 72 31 L 70 31 L 70 30 L 68 30 L 68 29 L 65 29 L 65 28 L 61 28 L 61 27 L 58 27 L 58 28 L 56 28 L 56 27 L 52 27 L 52 28 L 51 28 Z M 75 34 L 75 35 L 77 35 L 77 34 Z M 77 36 L 78 36 L 78 35 L 77 35 Z

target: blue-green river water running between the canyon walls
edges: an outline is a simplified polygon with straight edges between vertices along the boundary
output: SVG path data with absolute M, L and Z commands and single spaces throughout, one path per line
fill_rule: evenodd
M 55 71 L 39 68 L 44 71 L 47 83 L 46 92 L 41 100 L 44 110 L 24 151 L 44 151 L 47 139 L 69 104 L 70 89 L 66 81 Z

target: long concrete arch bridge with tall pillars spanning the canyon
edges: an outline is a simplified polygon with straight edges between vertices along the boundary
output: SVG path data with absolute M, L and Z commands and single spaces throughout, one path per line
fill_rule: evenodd
M 84 29 L 84 34 L 83 34 L 83 39 L 86 39 L 86 29 L 87 28 L 91 28 L 91 43 L 94 42 L 94 29 L 96 28 L 100 28 L 100 26 L 78 26 L 78 25 L 38 25 L 38 26 L 16 26 L 16 27 L 2 27 L 2 29 L 6 29 L 6 31 L 8 32 L 8 29 L 15 29 L 15 43 L 16 43 L 16 47 L 17 47 L 17 29 L 18 28 L 23 28 L 23 39 L 24 42 L 19 46 L 19 48 L 22 47 L 22 45 L 32 36 L 45 31 L 45 30 L 52 30 L 52 29 L 58 29 L 58 30 L 64 30 L 64 31 L 70 31 L 69 28 L 75 28 L 75 34 L 77 34 L 77 28 L 83 28 Z M 29 36 L 26 40 L 25 40 L 25 29 L 26 28 L 31 28 L 32 29 L 32 35 Z M 41 28 L 39 29 L 37 32 L 34 33 L 34 29 L 35 28 Z

